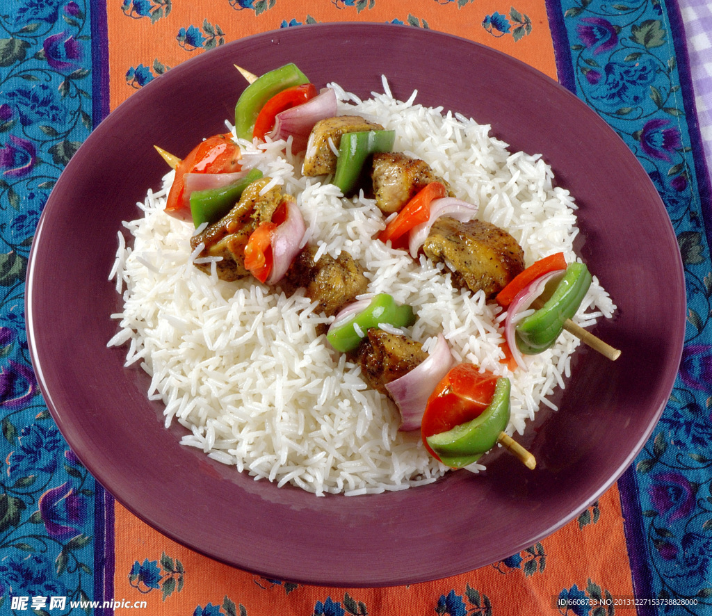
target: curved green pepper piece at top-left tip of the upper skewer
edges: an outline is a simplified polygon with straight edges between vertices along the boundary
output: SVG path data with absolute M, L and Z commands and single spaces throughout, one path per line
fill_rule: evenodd
M 309 83 L 309 79 L 293 63 L 275 68 L 254 80 L 244 89 L 235 105 L 236 135 L 252 140 L 255 120 L 265 103 L 282 90 L 303 83 Z

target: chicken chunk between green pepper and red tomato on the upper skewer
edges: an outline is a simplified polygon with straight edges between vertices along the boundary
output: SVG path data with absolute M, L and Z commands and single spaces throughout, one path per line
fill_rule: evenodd
M 397 212 L 430 182 L 449 184 L 437 176 L 424 160 L 402 152 L 378 152 L 373 155 L 371 171 L 377 207 L 384 214 Z

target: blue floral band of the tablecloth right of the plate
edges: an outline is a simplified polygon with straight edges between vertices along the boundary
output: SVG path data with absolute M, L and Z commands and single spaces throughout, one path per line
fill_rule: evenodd
M 710 189 L 696 165 L 697 135 L 676 63 L 674 7 L 661 0 L 562 3 L 571 70 L 567 87 L 622 137 L 661 195 L 686 274 L 688 325 L 676 386 L 648 444 L 620 486 L 634 568 L 649 596 L 712 606 L 712 264 Z M 669 20 L 664 16 L 669 12 Z M 675 26 L 678 26 L 677 28 Z M 562 56 L 566 54 L 562 53 Z M 631 520 L 637 521 L 633 523 Z M 646 593 L 644 593 L 645 595 Z M 703 607 L 706 606 L 706 607 Z M 681 610 L 681 611 L 680 611 Z

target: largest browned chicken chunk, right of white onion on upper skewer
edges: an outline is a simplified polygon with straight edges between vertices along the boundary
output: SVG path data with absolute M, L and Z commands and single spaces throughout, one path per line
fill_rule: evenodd
M 445 263 L 457 286 L 474 292 L 481 289 L 488 299 L 524 269 L 524 252 L 517 241 L 480 220 L 459 222 L 441 216 L 431 227 L 423 251 L 432 261 Z

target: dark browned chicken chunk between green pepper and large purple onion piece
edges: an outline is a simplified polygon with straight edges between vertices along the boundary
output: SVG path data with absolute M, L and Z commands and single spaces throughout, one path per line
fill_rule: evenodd
M 421 343 L 406 336 L 371 328 L 367 338 L 354 350 L 355 362 L 368 385 L 388 395 L 386 383 L 392 382 L 413 370 L 426 360 Z

